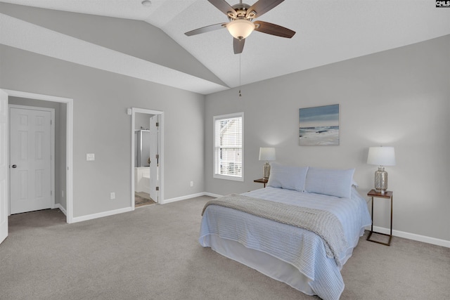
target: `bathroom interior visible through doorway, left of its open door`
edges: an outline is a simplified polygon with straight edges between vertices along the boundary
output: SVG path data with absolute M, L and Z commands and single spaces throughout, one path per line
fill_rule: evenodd
M 154 126 L 151 125 L 154 124 Z M 134 207 L 155 204 L 151 194 L 152 176 L 150 166 L 158 164 L 155 149 L 158 149 L 158 115 L 136 112 L 134 117 Z M 153 128 L 150 128 L 153 127 Z M 156 137 L 156 138 L 155 138 Z M 158 152 L 158 151 L 156 151 Z M 153 167 L 153 166 L 152 166 Z M 156 200 L 156 201 L 155 201 Z

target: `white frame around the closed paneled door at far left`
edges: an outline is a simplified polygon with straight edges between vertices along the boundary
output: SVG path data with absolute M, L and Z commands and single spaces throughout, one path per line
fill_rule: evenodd
M 17 105 L 17 104 L 8 104 L 8 159 L 11 157 L 11 108 L 18 108 L 20 110 L 41 110 L 44 112 L 50 112 L 51 114 L 51 126 L 50 126 L 50 155 L 51 155 L 51 174 L 50 174 L 50 190 L 51 190 L 51 202 L 50 202 L 50 208 L 55 208 L 55 109 L 49 108 L 49 107 L 37 107 L 37 106 L 27 106 L 27 105 Z M 10 164 L 11 165 L 11 164 Z M 9 184 L 11 186 L 11 168 L 9 169 Z M 11 188 L 8 189 L 8 216 L 11 215 Z

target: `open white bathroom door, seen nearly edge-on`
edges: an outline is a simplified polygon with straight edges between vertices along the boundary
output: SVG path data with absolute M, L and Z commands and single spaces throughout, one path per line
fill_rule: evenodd
M 158 203 L 159 191 L 159 152 L 158 152 L 158 116 L 150 117 L 150 197 Z

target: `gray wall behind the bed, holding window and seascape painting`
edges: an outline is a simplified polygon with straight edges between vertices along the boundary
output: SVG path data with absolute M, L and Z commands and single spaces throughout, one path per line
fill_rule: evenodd
M 219 195 L 262 188 L 259 147 L 283 164 L 356 168 L 361 195 L 373 188 L 370 146 L 395 147 L 387 167 L 394 230 L 450 240 L 450 36 L 257 82 L 206 97 L 205 185 Z M 300 147 L 300 107 L 340 104 L 340 145 Z M 212 177 L 212 117 L 245 112 L 245 181 Z M 377 207 L 378 206 L 378 207 Z M 389 228 L 388 202 L 375 225 Z

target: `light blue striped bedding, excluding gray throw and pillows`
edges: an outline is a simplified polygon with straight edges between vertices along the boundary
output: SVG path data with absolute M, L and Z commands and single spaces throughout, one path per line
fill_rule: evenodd
M 335 214 L 349 244 L 340 253 L 341 265 L 352 256 L 364 227 L 371 224 L 366 201 L 354 189 L 351 199 L 271 187 L 243 195 Z M 321 237 L 302 228 L 210 205 L 203 215 L 199 242 L 305 294 L 339 299 L 344 289 L 340 268 L 326 256 Z

